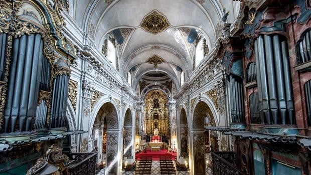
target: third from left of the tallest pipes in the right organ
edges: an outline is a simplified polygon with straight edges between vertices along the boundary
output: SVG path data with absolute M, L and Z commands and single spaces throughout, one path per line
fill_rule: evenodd
M 282 55 L 280 48 L 280 40 L 278 35 L 273 36 L 273 51 L 274 51 L 274 63 L 276 73 L 276 84 L 277 84 L 277 101 L 279 111 L 281 114 L 282 124 L 285 124 L 286 115 L 286 103 L 285 103 L 285 89 L 284 89 L 284 75 L 282 69 Z

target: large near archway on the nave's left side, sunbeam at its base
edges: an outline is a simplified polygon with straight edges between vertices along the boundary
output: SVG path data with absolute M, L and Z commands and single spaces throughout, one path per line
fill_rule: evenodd
M 119 131 L 118 116 L 114 105 L 107 102 L 98 110 L 92 137 L 94 145 L 99 148 L 98 162 L 102 163 L 106 168 L 107 174 L 117 174 L 118 162 L 120 158 L 118 154 Z

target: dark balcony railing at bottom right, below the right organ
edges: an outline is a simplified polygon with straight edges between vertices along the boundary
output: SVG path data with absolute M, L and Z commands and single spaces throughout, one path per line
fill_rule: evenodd
M 245 175 L 236 167 L 234 152 L 211 152 L 213 175 Z

